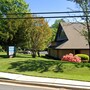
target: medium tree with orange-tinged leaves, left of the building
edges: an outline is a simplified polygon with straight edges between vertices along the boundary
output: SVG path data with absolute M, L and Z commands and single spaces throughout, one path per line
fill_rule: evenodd
M 25 23 L 27 45 L 32 51 L 32 57 L 36 57 L 37 51 L 44 50 L 48 46 L 52 32 L 44 18 L 32 21 L 28 19 Z

